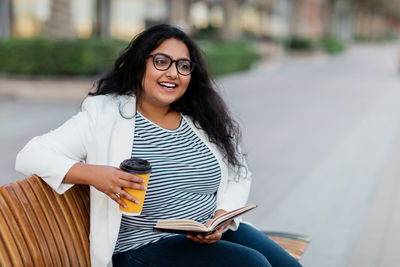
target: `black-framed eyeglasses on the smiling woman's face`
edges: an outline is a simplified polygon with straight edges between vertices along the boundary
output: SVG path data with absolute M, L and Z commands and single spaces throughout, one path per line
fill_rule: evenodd
M 153 58 L 153 65 L 157 70 L 167 70 L 171 67 L 172 63 L 175 62 L 176 70 L 183 76 L 189 75 L 194 68 L 195 63 L 189 59 L 178 59 L 173 60 L 170 56 L 163 53 L 156 53 L 149 55 Z

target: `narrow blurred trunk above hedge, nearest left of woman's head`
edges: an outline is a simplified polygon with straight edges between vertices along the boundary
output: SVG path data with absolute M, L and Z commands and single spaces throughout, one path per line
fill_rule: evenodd
M 111 0 L 96 0 L 96 16 L 93 34 L 102 38 L 110 38 Z

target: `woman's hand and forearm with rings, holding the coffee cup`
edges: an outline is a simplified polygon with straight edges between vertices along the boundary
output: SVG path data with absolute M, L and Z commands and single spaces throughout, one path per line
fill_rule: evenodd
M 72 166 L 63 180 L 63 183 L 68 184 L 92 185 L 123 207 L 126 207 L 126 204 L 121 198 L 139 203 L 124 188 L 146 190 L 146 187 L 140 184 L 143 182 L 145 182 L 144 179 L 115 167 L 83 163 Z

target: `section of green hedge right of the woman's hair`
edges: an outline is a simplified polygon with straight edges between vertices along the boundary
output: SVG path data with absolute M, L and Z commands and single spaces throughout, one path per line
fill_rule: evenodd
M 249 42 L 200 42 L 205 60 L 213 75 L 244 71 L 260 59 L 256 47 Z

